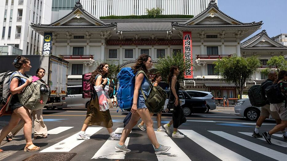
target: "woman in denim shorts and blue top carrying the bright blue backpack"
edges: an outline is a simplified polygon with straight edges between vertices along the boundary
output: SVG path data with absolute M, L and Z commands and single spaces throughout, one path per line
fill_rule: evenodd
M 147 71 L 151 69 L 152 67 L 152 60 L 151 57 L 146 54 L 141 54 L 139 58 L 136 60 L 136 64 L 132 66 L 132 69 L 134 70 L 134 73 L 136 74 L 138 71 L 144 71 L 147 74 Z M 136 78 L 135 81 L 135 90 L 133 95 L 133 102 L 132 102 L 132 117 L 131 120 L 128 122 L 128 124 L 124 127 L 124 130 L 122 132 L 122 137 L 120 138 L 120 142 L 116 144 L 115 149 L 117 151 L 123 151 L 123 152 L 131 152 L 130 149 L 126 147 L 124 142 L 126 141 L 129 133 L 132 131 L 132 128 L 137 124 L 140 118 L 144 121 L 144 123 L 147 126 L 147 136 L 149 140 L 151 141 L 151 144 L 153 144 L 155 149 L 155 154 L 162 154 L 167 152 L 171 147 L 163 146 L 159 144 L 159 142 L 156 139 L 155 131 L 153 129 L 153 121 L 150 116 L 150 112 L 147 109 L 147 106 L 145 105 L 144 100 L 144 94 L 148 96 L 148 90 L 151 86 L 149 81 L 145 78 L 144 74 L 140 73 Z M 143 82 L 144 81 L 144 82 Z M 139 89 L 142 88 L 143 93 L 139 92 Z

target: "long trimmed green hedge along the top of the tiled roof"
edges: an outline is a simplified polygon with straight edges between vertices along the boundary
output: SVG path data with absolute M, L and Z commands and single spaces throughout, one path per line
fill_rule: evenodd
M 174 19 L 174 18 L 193 18 L 193 15 L 180 15 L 180 14 L 172 14 L 172 15 L 129 15 L 129 16 L 103 16 L 100 17 L 101 20 L 104 19 Z

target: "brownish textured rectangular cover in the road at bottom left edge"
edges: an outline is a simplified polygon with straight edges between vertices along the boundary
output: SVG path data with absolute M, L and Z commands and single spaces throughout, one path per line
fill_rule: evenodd
M 71 160 L 77 153 L 56 153 L 56 154 L 35 154 L 26 158 L 22 161 L 69 161 Z

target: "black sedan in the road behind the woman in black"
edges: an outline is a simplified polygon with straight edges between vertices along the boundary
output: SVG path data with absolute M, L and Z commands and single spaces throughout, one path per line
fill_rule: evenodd
M 169 98 L 169 90 L 165 90 L 167 92 L 167 98 Z M 181 101 L 181 106 L 183 108 L 183 113 L 185 116 L 190 116 L 194 109 L 204 110 L 206 109 L 206 101 L 198 98 L 191 98 L 189 94 L 187 94 L 184 90 L 179 90 L 179 101 Z M 168 99 L 165 101 L 165 105 L 163 107 L 163 113 L 167 108 Z

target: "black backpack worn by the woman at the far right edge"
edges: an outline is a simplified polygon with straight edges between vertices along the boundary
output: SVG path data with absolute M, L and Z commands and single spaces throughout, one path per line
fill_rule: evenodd
M 285 97 L 281 93 L 281 88 L 279 84 L 272 84 L 265 89 L 266 97 L 268 101 L 272 104 L 281 103 L 285 100 Z M 286 103 L 286 102 L 285 102 Z

